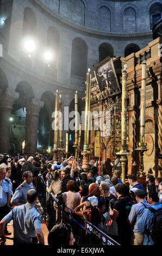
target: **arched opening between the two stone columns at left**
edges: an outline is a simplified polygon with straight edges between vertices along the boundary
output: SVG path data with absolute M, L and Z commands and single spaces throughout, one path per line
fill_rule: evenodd
M 22 152 L 22 141 L 26 135 L 26 100 L 34 97 L 32 86 L 26 81 L 17 84 L 18 100 L 14 102 L 10 118 L 10 143 L 14 143 L 16 152 Z

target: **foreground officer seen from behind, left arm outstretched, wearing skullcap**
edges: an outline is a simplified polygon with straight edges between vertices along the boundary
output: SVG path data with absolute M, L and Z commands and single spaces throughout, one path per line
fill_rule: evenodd
M 6 222 L 13 220 L 14 245 L 20 243 L 44 244 L 44 236 L 41 230 L 41 216 L 35 209 L 35 202 L 38 199 L 38 192 L 35 188 L 27 191 L 27 203 L 15 206 L 0 222 L 0 242 L 5 241 L 4 226 Z

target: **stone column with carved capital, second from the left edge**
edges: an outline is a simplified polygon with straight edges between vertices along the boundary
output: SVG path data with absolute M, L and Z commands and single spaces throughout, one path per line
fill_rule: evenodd
M 44 102 L 38 99 L 26 101 L 26 137 L 25 154 L 34 156 L 37 149 L 39 112 Z

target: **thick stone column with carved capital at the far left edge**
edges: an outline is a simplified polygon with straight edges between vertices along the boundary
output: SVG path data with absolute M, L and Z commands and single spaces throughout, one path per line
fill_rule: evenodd
M 8 153 L 10 141 L 10 115 L 13 109 L 14 101 L 18 99 L 19 93 L 12 89 L 2 92 L 0 90 L 0 153 Z

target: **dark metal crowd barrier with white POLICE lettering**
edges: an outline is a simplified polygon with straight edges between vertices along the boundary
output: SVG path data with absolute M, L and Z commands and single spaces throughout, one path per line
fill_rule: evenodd
M 65 212 L 63 207 L 58 205 L 58 199 L 48 192 L 48 187 L 41 177 L 38 184 L 39 201 L 44 211 L 45 221 L 48 220 L 48 230 L 61 222 L 70 223 L 78 245 L 120 245 L 89 221 L 73 214 L 66 205 L 64 206 L 70 211 L 70 214 Z

